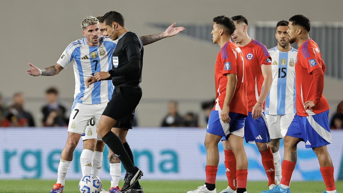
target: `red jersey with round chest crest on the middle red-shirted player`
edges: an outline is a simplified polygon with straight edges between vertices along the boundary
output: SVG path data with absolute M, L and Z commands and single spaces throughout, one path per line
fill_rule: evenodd
M 264 80 L 261 65 L 271 65 L 272 58 L 265 45 L 254 39 L 251 39 L 249 44 L 240 46 L 240 49 L 243 52 L 244 65 L 247 72 L 248 111 L 252 112 L 252 107 L 257 103 L 257 99 L 260 96 Z

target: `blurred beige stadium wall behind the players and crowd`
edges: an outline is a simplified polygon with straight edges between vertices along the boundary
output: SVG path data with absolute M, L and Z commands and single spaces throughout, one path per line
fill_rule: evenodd
M 1 2 L 3 46 L 0 53 L 5 73 L 0 76 L 0 92 L 8 103 L 14 92 L 24 92 L 25 107 L 33 112 L 36 123 L 40 122 L 45 89 L 50 86 L 57 87 L 60 97 L 66 99 L 62 102 L 71 107 L 74 73 L 68 67 L 54 77 L 30 77 L 25 72 L 27 63 L 40 68 L 54 65 L 70 42 L 83 37 L 80 23 L 88 15 L 98 16 L 116 10 L 125 17 L 127 28 L 138 35 L 163 31 L 151 23 L 211 25 L 212 18 L 221 14 L 243 14 L 250 24 L 287 20 L 299 13 L 317 22 L 342 22 L 343 18 L 342 0 L 288 0 L 287 3 L 272 0 L 104 0 L 95 3 L 89 0 Z M 219 52 L 217 45 L 180 34 L 144 49 L 143 98 L 137 109 L 140 126 L 158 126 L 170 99 L 181 101 L 180 112 L 185 113 L 200 112 L 199 102 L 214 98 L 213 64 Z M 342 85 L 342 80 L 326 76 L 324 94 L 331 109 L 342 100 Z

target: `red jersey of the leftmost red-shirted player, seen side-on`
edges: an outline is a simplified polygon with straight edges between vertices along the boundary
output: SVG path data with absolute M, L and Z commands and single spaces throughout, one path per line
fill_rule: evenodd
M 214 67 L 216 102 L 213 110 L 223 109 L 227 74 L 237 75 L 236 90 L 229 104 L 230 112 L 248 115 L 244 59 L 239 46 L 231 41 L 226 42 L 217 55 Z

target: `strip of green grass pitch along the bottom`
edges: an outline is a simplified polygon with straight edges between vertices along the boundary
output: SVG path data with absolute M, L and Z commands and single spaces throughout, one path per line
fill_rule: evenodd
M 48 193 L 56 180 L 39 180 L 39 179 L 24 179 L 24 180 L 0 180 L 1 193 Z M 79 193 L 79 181 L 66 180 L 66 186 L 63 193 Z M 103 188 L 109 189 L 110 182 L 103 180 Z M 121 181 L 122 183 L 122 181 Z M 194 190 L 198 186 L 203 185 L 204 181 L 153 181 L 141 180 L 144 193 L 186 193 L 189 190 Z M 120 184 L 122 185 L 122 184 Z M 217 192 L 226 188 L 226 181 L 218 181 L 216 184 Z M 343 189 L 343 181 L 336 182 L 337 190 Z M 260 193 L 267 189 L 267 182 L 249 181 L 247 190 L 248 193 Z M 292 182 L 292 193 L 314 193 L 325 190 L 324 182 Z

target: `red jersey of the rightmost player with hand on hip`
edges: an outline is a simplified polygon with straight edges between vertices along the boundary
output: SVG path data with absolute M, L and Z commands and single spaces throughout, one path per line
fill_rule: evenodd
M 320 68 L 325 73 L 326 66 L 321 58 L 320 50 L 315 41 L 307 40 L 299 47 L 295 61 L 295 109 L 299 116 L 309 116 L 329 110 L 329 103 L 322 94 L 318 105 L 305 111 L 304 103 L 315 99 L 314 79 L 311 72 Z

